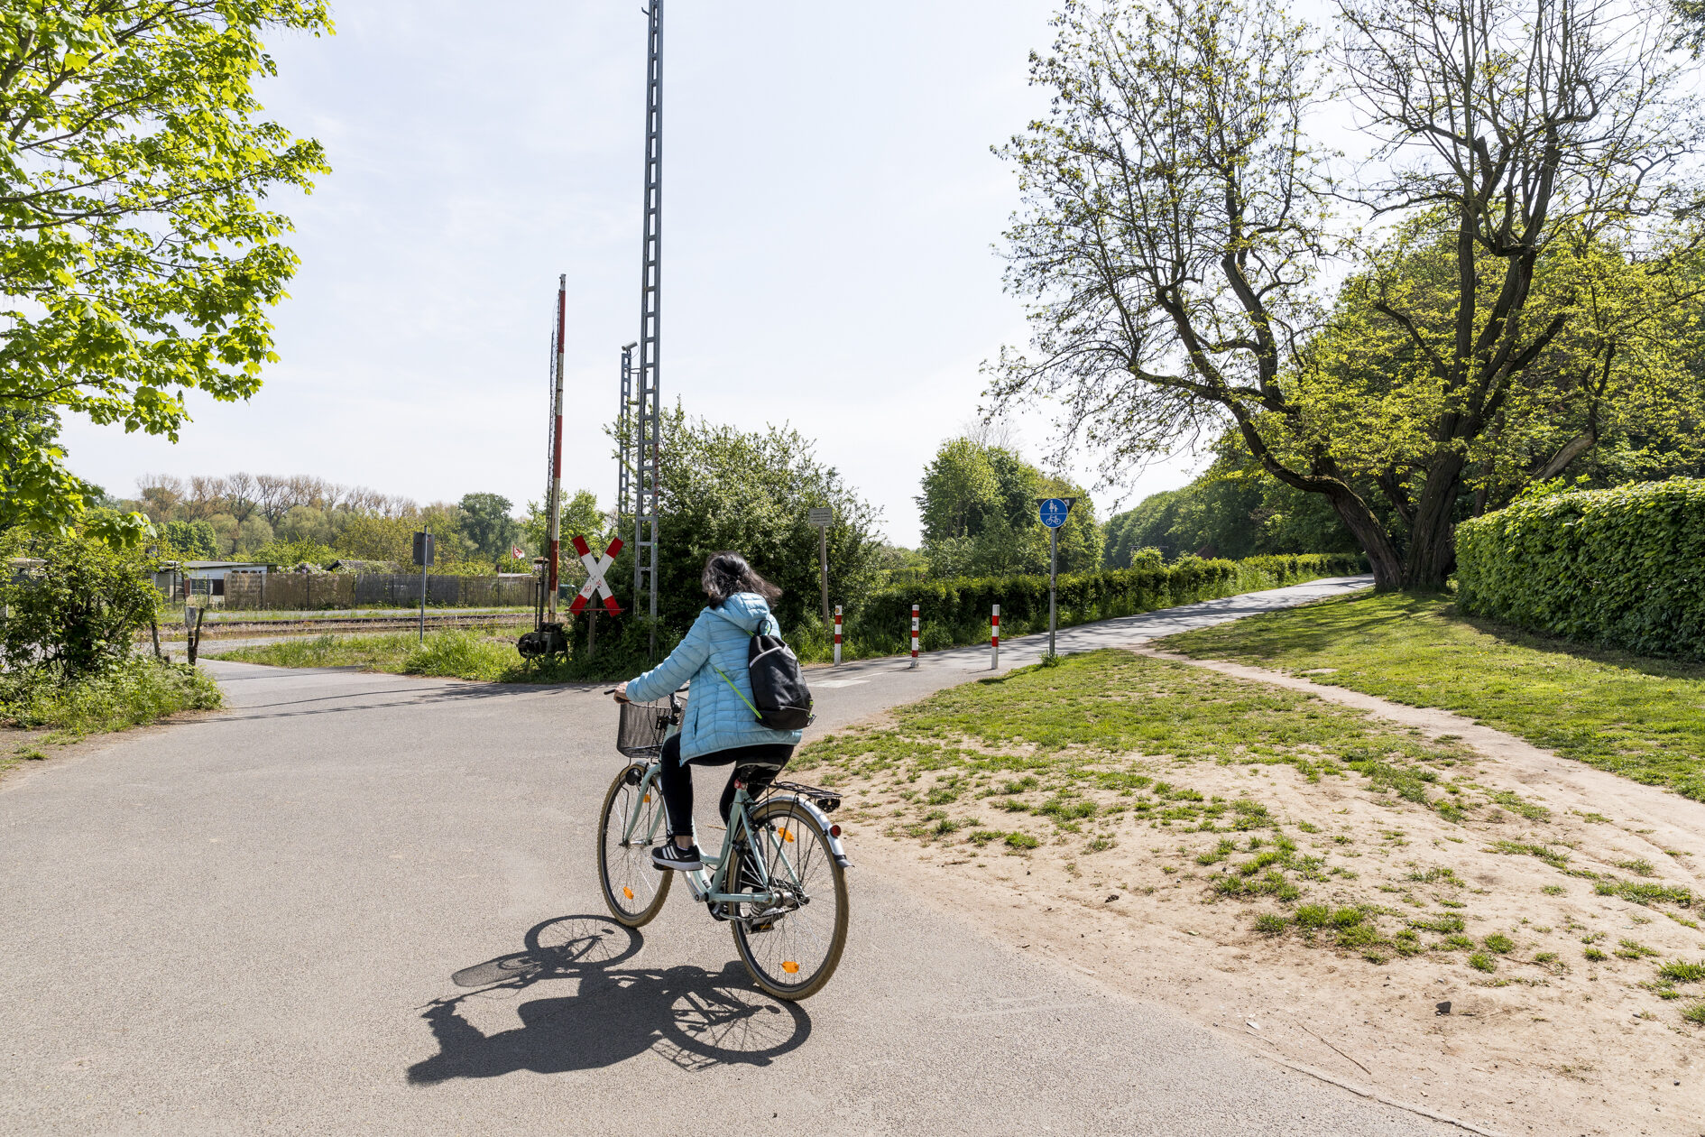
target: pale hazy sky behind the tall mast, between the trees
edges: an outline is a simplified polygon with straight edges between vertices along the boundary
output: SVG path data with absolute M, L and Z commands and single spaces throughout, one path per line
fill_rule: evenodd
M 912 496 L 1021 343 L 992 245 L 1016 203 L 991 153 L 1042 109 L 1049 0 L 670 0 L 663 394 L 789 421 L 916 544 Z M 348 0 L 281 38 L 268 111 L 334 172 L 281 198 L 302 269 L 281 363 L 194 404 L 179 445 L 68 423 L 80 474 L 319 474 L 419 501 L 544 484 L 556 278 L 568 273 L 564 481 L 607 505 L 621 344 L 636 338 L 639 0 Z M 1020 423 L 1032 457 L 1045 419 Z M 1105 505 L 1187 481 L 1185 462 Z M 1078 470 L 1086 476 L 1088 470 Z M 1127 501 L 1129 503 L 1129 501 Z

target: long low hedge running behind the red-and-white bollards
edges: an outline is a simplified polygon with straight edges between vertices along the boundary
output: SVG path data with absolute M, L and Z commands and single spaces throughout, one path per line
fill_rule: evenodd
M 1136 615 L 1197 600 L 1364 571 L 1367 561 L 1361 554 L 1338 552 L 1245 561 L 1187 557 L 1170 566 L 1062 574 L 1059 626 Z M 1047 631 L 1049 578 L 960 576 L 875 592 L 849 622 L 849 639 L 859 646 L 861 655 L 909 649 L 914 603 L 919 605 L 922 626 L 919 639 L 926 651 L 987 643 L 989 612 L 996 603 L 1001 605 L 1001 636 L 1026 636 Z

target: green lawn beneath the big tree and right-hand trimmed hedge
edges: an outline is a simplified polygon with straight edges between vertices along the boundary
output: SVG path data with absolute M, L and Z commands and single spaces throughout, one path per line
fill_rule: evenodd
M 1456 711 L 1536 747 L 1705 801 L 1700 665 L 1463 617 L 1448 597 L 1374 593 L 1183 632 L 1154 646 L 1316 672 L 1308 675 L 1316 684 Z

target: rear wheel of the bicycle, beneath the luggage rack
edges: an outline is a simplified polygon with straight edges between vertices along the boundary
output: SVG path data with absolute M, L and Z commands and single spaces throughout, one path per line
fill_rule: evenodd
M 745 905 L 745 919 L 730 921 L 740 961 L 776 999 L 813 996 L 847 943 L 847 878 L 829 832 L 793 798 L 771 798 L 752 813 L 747 856 L 762 863 L 777 903 L 767 914 Z

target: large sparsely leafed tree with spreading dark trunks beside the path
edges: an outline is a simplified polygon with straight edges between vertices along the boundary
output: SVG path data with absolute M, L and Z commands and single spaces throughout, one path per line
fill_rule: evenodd
M 1430 588 L 1497 455 L 1550 435 L 1543 462 L 1572 460 L 1581 423 L 1563 435 L 1557 406 L 1592 401 L 1589 361 L 1615 366 L 1696 307 L 1676 283 L 1686 237 L 1662 223 L 1698 133 L 1645 0 L 1338 15 L 1350 92 L 1393 159 L 1349 193 L 1304 136 L 1313 41 L 1277 0 L 1067 0 L 1032 63 L 1052 111 L 1004 152 L 1026 201 L 1008 280 L 1037 358 L 1006 353 L 992 394 L 1061 399 L 1113 465 L 1229 423 L 1265 474 L 1330 503 L 1381 586 Z M 1333 194 L 1391 239 L 1364 263 L 1367 302 L 1333 312 L 1367 317 L 1316 343 L 1320 273 L 1359 247 Z M 1420 256 L 1434 247 L 1448 257 Z M 1402 366 L 1359 363 L 1386 348 Z

